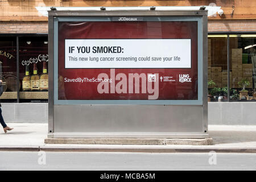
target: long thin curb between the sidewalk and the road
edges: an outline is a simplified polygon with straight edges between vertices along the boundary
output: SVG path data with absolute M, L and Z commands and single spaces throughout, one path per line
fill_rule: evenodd
M 157 148 L 157 147 L 148 147 L 148 148 L 94 148 L 94 147 L 0 147 L 0 151 L 26 151 L 26 152 L 149 152 L 149 153 L 208 153 L 214 151 L 217 153 L 256 153 L 255 148 Z

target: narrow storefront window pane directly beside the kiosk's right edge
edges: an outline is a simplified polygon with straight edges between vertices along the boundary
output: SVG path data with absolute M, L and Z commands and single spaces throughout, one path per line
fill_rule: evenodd
M 228 101 L 228 35 L 208 35 L 208 101 Z

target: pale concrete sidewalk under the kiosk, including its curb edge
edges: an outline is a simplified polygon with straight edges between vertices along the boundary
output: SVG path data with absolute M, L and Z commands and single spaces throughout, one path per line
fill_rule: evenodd
M 45 144 L 48 124 L 7 123 L 14 130 L 0 130 L 0 151 L 87 151 L 87 152 L 253 152 L 256 153 L 256 126 L 209 125 L 212 146 Z

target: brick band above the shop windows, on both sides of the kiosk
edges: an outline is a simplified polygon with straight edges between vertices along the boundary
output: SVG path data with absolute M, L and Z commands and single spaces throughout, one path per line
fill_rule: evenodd
M 208 20 L 208 31 L 256 31 L 256 19 L 254 20 Z M 15 34 L 15 33 L 48 33 L 48 22 L 1 22 L 0 34 Z

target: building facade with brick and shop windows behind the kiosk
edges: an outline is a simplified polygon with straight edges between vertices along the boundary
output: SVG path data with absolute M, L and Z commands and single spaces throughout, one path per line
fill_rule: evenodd
M 255 125 L 256 2 L 250 0 L 0 2 L 0 61 L 6 122 L 47 122 L 48 18 L 36 7 L 221 6 L 208 17 L 209 124 Z M 26 86 L 27 76 L 35 79 Z M 40 79 L 40 76 L 41 79 Z M 34 84 L 34 86 L 32 86 Z M 243 88 L 247 92 L 240 92 Z M 36 92 L 32 92 L 36 91 Z M 28 114 L 29 113 L 29 114 Z

